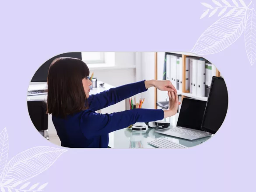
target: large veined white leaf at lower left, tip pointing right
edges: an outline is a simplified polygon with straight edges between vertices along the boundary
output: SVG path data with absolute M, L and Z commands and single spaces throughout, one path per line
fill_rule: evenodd
M 48 169 L 65 151 L 67 150 L 46 146 L 25 150 L 7 163 L 2 174 L 2 182 L 11 178 L 14 178 L 12 183 L 25 182 Z

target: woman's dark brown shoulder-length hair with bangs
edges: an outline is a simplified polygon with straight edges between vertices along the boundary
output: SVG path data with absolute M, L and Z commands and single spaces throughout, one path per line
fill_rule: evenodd
M 88 108 L 82 79 L 90 70 L 80 59 L 60 57 L 54 59 L 48 71 L 47 113 L 60 118 Z

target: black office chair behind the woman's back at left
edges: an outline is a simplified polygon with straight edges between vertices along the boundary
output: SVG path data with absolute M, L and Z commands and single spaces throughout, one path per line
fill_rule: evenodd
M 46 103 L 44 101 L 28 101 L 28 113 L 35 128 L 49 140 Z

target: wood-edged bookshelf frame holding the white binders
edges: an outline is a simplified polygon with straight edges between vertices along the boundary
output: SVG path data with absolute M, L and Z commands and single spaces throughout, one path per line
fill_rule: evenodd
M 182 82 L 186 82 L 186 57 L 195 57 L 195 58 L 203 58 L 201 56 L 198 56 L 196 54 L 193 53 L 189 53 L 189 52 L 168 52 L 170 54 L 179 54 L 182 57 Z M 203 58 L 204 59 L 204 58 Z M 164 63 L 158 63 L 158 52 L 155 52 L 155 71 L 154 71 L 154 76 L 155 79 L 159 79 L 157 74 L 158 74 L 158 65 L 163 65 Z M 217 77 L 221 77 L 221 73 L 219 72 L 219 70 L 217 70 L 216 68 L 216 74 L 213 74 L 214 76 Z M 202 101 L 207 101 L 208 97 L 202 97 L 202 96 L 198 96 L 196 94 L 192 94 L 189 92 L 189 90 L 186 90 L 186 83 L 182 84 L 182 89 L 177 91 L 178 95 L 181 95 L 181 99 L 183 99 L 184 97 L 186 98 L 194 98 L 194 99 L 198 99 L 198 100 L 202 100 Z M 157 93 L 157 89 L 155 88 L 155 109 L 157 109 L 157 104 L 156 102 L 158 101 L 158 93 Z M 182 100 L 181 100 L 182 101 Z

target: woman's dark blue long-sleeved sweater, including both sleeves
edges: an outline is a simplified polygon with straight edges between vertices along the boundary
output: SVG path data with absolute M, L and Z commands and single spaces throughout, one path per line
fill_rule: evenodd
M 136 122 L 164 119 L 162 109 L 133 109 L 111 114 L 95 111 L 114 105 L 135 94 L 147 91 L 144 80 L 111 88 L 88 98 L 89 109 L 67 115 L 66 119 L 52 116 L 61 146 L 71 148 L 108 147 L 109 133 Z

